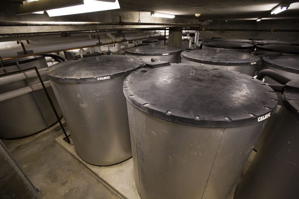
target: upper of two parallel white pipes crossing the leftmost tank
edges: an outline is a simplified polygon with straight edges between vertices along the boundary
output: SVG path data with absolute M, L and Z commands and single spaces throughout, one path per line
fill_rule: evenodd
M 48 68 L 42 68 L 39 69 L 39 74 L 40 75 L 45 75 L 45 71 Z M 31 70 L 31 71 L 26 71 L 23 73 L 18 73 L 18 74 L 13 74 L 13 75 L 7 75 L 7 76 L 3 76 L 0 77 L 0 85 L 3 84 L 8 84 L 8 83 L 12 83 L 12 82 L 16 82 L 22 79 L 27 79 L 27 78 L 31 78 L 31 77 L 37 77 L 37 74 L 35 72 L 35 70 Z

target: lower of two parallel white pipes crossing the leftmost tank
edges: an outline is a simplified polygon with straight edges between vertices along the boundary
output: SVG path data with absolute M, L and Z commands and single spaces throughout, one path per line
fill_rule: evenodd
M 44 85 L 46 88 L 50 87 L 51 86 L 50 81 L 44 82 Z M 6 92 L 3 94 L 0 94 L 0 102 L 2 102 L 4 100 L 9 100 L 14 97 L 24 95 L 26 93 L 30 93 L 32 91 L 37 91 L 40 89 L 42 89 L 42 84 L 38 83 L 38 84 L 31 85 L 31 86 L 26 86 L 24 88 L 20 88 L 20 89 L 14 90 L 14 91 Z

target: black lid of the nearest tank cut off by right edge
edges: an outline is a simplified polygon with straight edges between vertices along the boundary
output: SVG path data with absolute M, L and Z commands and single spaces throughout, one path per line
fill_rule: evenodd
M 299 79 L 286 83 L 282 99 L 286 109 L 299 120 Z

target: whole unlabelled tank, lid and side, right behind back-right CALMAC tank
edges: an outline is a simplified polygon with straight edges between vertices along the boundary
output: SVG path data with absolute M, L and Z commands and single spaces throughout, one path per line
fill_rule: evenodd
M 231 50 L 243 53 L 251 53 L 254 45 L 240 42 L 218 42 L 218 41 L 205 41 L 202 42 L 202 49 L 221 49 L 221 50 Z

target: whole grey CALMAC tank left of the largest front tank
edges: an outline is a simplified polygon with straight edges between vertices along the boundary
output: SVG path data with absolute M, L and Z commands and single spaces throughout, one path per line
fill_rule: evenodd
M 102 55 L 63 62 L 46 73 L 82 160 L 108 166 L 132 156 L 122 85 L 142 66 L 137 57 Z

